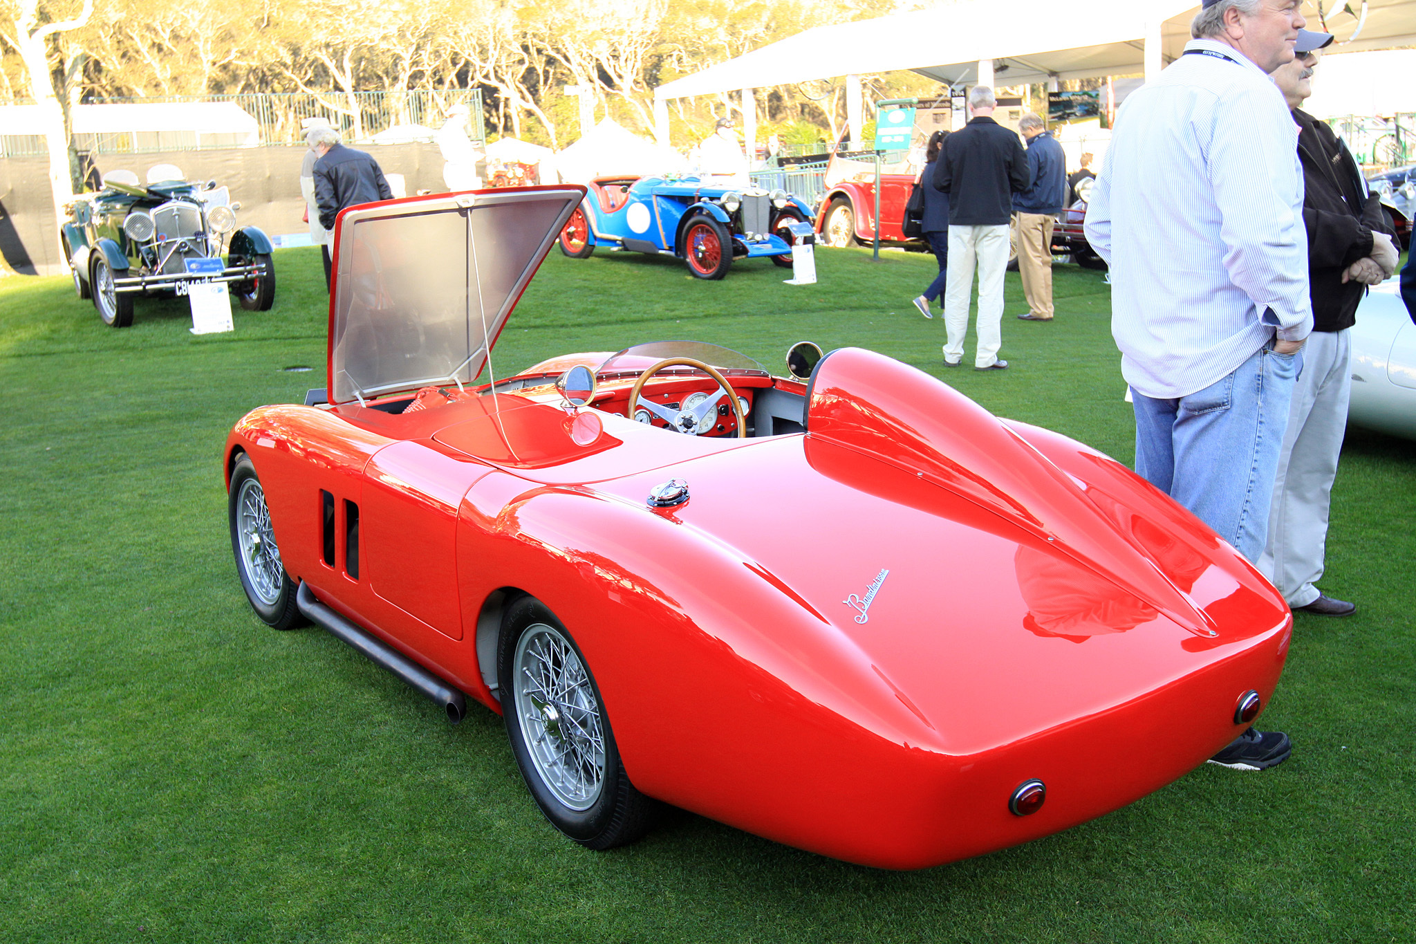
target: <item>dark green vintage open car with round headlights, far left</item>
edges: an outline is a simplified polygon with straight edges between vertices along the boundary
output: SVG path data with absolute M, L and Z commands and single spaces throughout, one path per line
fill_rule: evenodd
M 103 324 L 115 328 L 133 323 L 139 294 L 185 294 L 193 282 L 228 283 L 242 309 L 268 310 L 275 303 L 270 238 L 255 226 L 236 229 L 239 207 L 225 187 L 181 180 L 171 164 L 152 168 L 146 185 L 132 171 L 109 171 L 103 190 L 69 204 L 61 228 L 74 292 L 92 297 Z

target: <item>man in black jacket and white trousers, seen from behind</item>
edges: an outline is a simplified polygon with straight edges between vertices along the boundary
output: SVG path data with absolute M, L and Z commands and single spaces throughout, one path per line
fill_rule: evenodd
M 949 276 L 944 289 L 944 367 L 959 367 L 969 333 L 969 297 L 978 265 L 976 371 L 1001 371 L 1003 273 L 1008 266 L 1012 194 L 1032 183 L 1018 136 L 993 120 L 997 99 L 987 85 L 969 89 L 973 119 L 944 139 L 935 187 L 949 194 Z

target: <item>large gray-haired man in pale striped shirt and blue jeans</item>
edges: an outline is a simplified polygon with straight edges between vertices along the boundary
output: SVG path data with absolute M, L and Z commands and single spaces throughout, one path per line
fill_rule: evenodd
M 1204 0 L 1185 52 L 1121 106 L 1086 214 L 1112 267 L 1136 471 L 1250 562 L 1313 330 L 1298 129 L 1269 79 L 1293 59 L 1298 7 Z M 1211 763 L 1264 770 L 1290 753 L 1249 727 Z

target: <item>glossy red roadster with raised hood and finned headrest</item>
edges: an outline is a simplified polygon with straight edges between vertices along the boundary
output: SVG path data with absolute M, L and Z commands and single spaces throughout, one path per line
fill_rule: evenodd
M 1283 599 L 1080 443 L 858 348 L 797 345 L 792 376 L 697 341 L 498 376 L 583 192 L 340 215 L 329 386 L 224 454 L 265 623 L 323 626 L 452 720 L 501 713 L 537 804 L 596 849 L 673 804 L 932 866 L 1129 804 L 1253 720 Z

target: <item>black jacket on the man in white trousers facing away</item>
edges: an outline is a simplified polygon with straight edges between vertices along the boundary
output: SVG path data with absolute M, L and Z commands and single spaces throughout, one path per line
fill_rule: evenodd
M 1012 194 L 1032 184 L 1022 142 L 991 117 L 978 116 L 944 139 L 935 187 L 949 194 L 950 226 L 1005 226 Z

